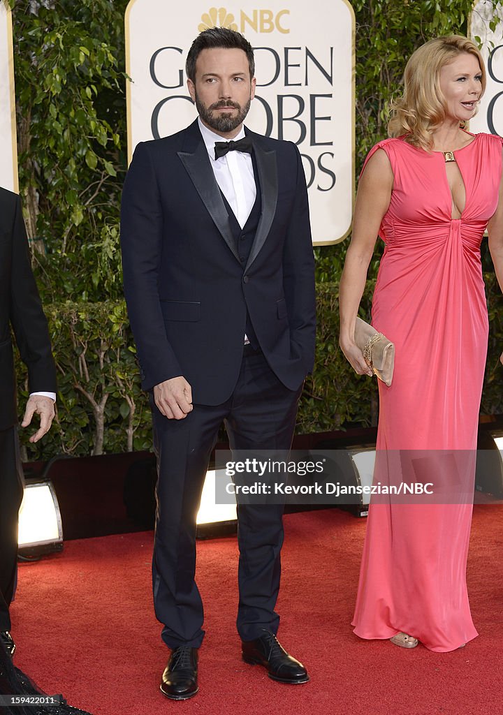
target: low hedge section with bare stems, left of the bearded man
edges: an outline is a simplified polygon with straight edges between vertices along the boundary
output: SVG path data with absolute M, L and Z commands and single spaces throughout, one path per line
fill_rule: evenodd
M 53 303 L 46 307 L 58 373 L 56 418 L 30 459 L 149 449 L 150 410 L 140 386 L 123 301 Z M 26 369 L 17 367 L 24 400 Z

